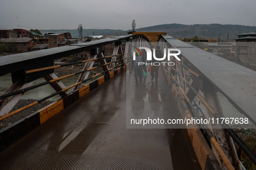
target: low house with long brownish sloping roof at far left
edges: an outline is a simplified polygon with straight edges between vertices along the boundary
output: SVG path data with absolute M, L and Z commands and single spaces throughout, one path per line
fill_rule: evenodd
M 10 51 L 29 52 L 38 42 L 33 38 L 4 38 L 0 43 L 9 44 Z

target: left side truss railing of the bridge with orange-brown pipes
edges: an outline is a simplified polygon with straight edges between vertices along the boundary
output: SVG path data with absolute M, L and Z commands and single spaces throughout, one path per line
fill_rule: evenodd
M 68 94 L 72 93 L 68 90 L 71 90 L 72 88 L 74 88 L 73 91 L 78 90 L 82 86 L 86 85 L 86 82 L 96 79 L 101 75 L 113 75 L 114 70 L 125 66 L 126 63 L 130 63 L 131 46 L 133 41 L 144 42 L 149 40 L 143 35 L 126 35 L 81 44 L 72 44 L 65 47 L 1 57 L 1 75 L 11 73 L 13 85 L 11 85 L 4 94 L 0 94 L 0 121 L 26 110 L 29 107 L 33 107 L 42 101 L 52 98 L 53 96 L 60 95 L 62 98 L 64 98 Z M 122 49 L 122 42 L 125 43 L 125 49 Z M 104 56 L 102 51 L 103 46 L 111 43 L 114 43 L 113 55 Z M 77 54 L 82 51 L 90 51 L 90 55 L 87 60 L 49 66 L 53 65 L 53 60 L 66 57 L 71 54 Z M 111 61 L 107 63 L 107 59 L 111 59 Z M 95 61 L 99 62 L 97 66 L 94 66 Z M 56 68 L 83 63 L 84 67 L 79 72 L 74 72 L 61 77 L 56 76 L 54 72 L 54 69 Z M 97 68 L 102 68 L 103 71 L 98 71 L 96 75 L 89 76 L 90 71 Z M 65 87 L 65 85 L 61 82 L 61 80 L 75 75 L 79 75 L 79 78 L 75 84 Z M 36 79 L 41 77 L 46 81 L 32 85 Z M 30 91 L 48 84 L 54 88 L 56 91 L 55 93 L 10 112 L 10 110 L 15 106 L 19 99 L 22 98 L 26 91 Z

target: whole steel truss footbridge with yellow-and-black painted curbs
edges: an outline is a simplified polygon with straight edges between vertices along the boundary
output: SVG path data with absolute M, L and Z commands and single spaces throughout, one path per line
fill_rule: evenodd
M 102 52 L 107 44 L 114 44 L 111 56 Z M 162 53 L 181 50 L 181 61 L 171 58 L 175 65 L 160 66 L 158 82 L 147 72 L 135 87 L 133 47 L 156 45 Z M 54 60 L 83 51 L 90 51 L 83 61 L 54 65 Z M 166 57 L 164 62 L 170 61 Z M 55 74 L 56 68 L 75 64 L 84 67 L 66 76 Z M 98 68 L 102 71 L 91 76 Z M 233 141 L 256 164 L 255 153 L 226 123 L 181 128 L 129 124 L 128 112 L 138 120 L 224 119 L 220 92 L 256 125 L 256 72 L 166 33 L 133 32 L 0 57 L 0 76 L 6 74 L 13 84 L 0 94 L 0 121 L 53 96 L 60 99 L 0 130 L 1 169 L 243 169 Z M 79 77 L 73 85 L 62 83 L 75 75 Z M 39 78 L 45 81 L 35 84 Z M 26 91 L 44 85 L 56 92 L 11 111 Z

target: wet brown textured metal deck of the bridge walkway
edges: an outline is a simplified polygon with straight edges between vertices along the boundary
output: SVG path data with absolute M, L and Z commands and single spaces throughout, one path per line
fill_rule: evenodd
M 163 89 L 166 82 L 161 74 L 153 92 L 158 101 L 146 91 L 147 99 L 139 97 L 137 102 L 136 94 L 145 96 L 148 83 L 156 87 L 149 75 L 138 87 L 134 82 L 129 93 L 126 78 L 133 84 L 133 74 L 120 73 L 1 152 L 1 169 L 200 169 L 186 129 L 127 129 L 127 99 L 133 104 L 144 102 L 139 107 L 157 107 L 161 113 L 168 105 L 162 98 L 169 103 L 174 99 Z M 133 114 L 140 112 L 133 106 Z M 178 115 L 177 107 L 170 107 Z

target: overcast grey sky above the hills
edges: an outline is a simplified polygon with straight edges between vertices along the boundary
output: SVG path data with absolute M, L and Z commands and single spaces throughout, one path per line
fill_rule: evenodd
M 132 29 L 160 24 L 256 26 L 256 0 L 1 0 L 0 29 Z

